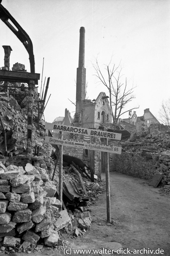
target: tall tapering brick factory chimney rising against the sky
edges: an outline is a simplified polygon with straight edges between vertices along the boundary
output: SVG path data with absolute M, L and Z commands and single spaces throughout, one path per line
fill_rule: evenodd
M 79 59 L 76 82 L 76 116 L 81 121 L 82 100 L 85 100 L 85 28 L 80 28 Z

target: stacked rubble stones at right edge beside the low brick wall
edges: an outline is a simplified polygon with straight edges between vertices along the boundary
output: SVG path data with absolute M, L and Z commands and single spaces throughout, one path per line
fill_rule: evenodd
M 170 150 L 161 152 L 159 161 L 155 165 L 157 171 L 163 174 L 163 180 L 170 185 Z

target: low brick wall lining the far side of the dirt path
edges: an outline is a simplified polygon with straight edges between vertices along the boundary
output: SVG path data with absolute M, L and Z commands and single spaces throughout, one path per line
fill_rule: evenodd
M 158 161 L 158 156 L 152 155 L 152 159 L 147 159 L 139 152 L 122 152 L 114 158 L 114 165 L 110 166 L 110 170 L 145 180 L 152 179 L 156 171 L 155 164 Z

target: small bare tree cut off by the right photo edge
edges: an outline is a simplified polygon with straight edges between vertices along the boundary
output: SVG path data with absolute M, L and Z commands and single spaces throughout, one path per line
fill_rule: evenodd
M 170 126 L 170 98 L 162 101 L 161 108 L 159 110 L 160 121 Z

